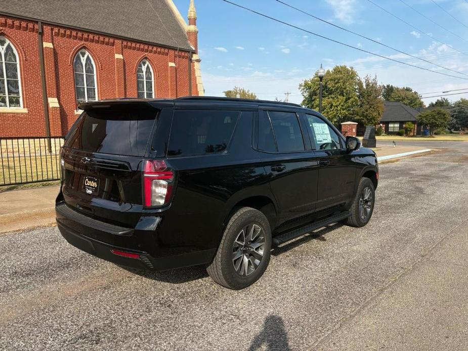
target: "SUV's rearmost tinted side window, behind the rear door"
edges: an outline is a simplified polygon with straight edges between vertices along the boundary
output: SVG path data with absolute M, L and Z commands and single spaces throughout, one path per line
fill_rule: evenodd
M 238 117 L 239 111 L 175 111 L 167 155 L 226 150 Z

